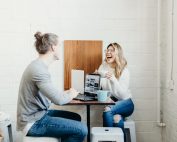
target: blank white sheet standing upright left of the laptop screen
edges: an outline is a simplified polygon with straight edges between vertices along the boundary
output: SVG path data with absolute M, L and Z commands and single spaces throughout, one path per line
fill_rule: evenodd
M 84 70 L 71 70 L 71 87 L 84 93 Z

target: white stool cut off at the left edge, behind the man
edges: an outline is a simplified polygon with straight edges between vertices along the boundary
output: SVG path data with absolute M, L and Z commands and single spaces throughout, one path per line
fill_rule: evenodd
M 3 142 L 13 142 L 10 116 L 3 112 L 0 112 L 0 134 L 3 137 Z

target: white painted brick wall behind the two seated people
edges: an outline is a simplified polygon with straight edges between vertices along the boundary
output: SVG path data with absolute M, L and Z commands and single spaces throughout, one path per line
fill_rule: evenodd
M 39 30 L 58 34 L 62 45 L 65 39 L 99 39 L 104 47 L 112 41 L 120 43 L 131 73 L 137 142 L 161 141 L 156 127 L 156 0 L 1 0 L 0 18 L 0 110 L 10 113 L 14 122 L 19 81 L 24 68 L 36 57 L 33 34 Z M 61 60 L 51 67 L 60 90 L 63 64 L 62 47 Z M 103 108 L 92 108 L 92 125 L 101 126 Z M 72 110 L 85 120 L 83 109 Z

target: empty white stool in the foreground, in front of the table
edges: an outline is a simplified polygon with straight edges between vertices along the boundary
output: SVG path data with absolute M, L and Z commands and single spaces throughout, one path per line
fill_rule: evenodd
M 116 141 L 124 142 L 124 135 L 121 128 L 115 127 L 93 127 L 91 129 L 92 142 Z

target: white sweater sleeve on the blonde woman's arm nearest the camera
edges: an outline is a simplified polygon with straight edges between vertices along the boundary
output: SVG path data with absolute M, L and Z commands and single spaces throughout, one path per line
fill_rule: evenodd
M 117 98 L 126 98 L 129 91 L 129 71 L 124 69 L 119 79 L 112 76 L 110 79 L 113 95 Z

